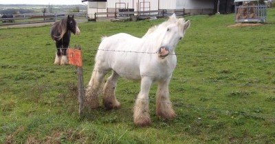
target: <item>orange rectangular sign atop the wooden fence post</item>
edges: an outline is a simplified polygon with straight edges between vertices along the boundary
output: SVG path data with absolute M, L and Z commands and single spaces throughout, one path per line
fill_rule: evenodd
M 78 49 L 67 49 L 67 56 L 69 64 L 74 66 L 82 67 L 82 56 L 81 51 Z

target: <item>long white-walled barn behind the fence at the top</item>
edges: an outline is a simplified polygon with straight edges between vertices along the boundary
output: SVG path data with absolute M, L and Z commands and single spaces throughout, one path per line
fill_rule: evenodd
M 221 8 L 228 8 L 230 1 L 234 0 L 221 0 Z M 91 19 L 97 12 L 118 12 L 120 9 L 134 12 L 184 10 L 185 14 L 217 12 L 217 0 L 83 0 L 82 2 L 87 2 L 87 13 Z

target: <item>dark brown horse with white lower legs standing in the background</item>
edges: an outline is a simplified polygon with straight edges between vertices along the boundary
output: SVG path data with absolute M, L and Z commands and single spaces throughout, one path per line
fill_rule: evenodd
M 69 38 L 71 38 L 71 32 L 73 34 L 80 34 L 80 30 L 77 26 L 76 20 L 73 16 L 67 16 L 61 21 L 57 21 L 52 25 L 51 36 L 56 43 L 56 59 L 54 64 L 67 64 L 67 48 L 69 47 Z

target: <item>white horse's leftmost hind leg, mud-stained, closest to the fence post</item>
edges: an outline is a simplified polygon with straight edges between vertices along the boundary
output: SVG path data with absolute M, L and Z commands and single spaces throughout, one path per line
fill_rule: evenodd
M 106 73 L 107 71 L 94 70 L 91 75 L 91 80 L 86 88 L 86 94 L 85 94 L 87 105 L 90 108 L 99 107 L 98 98 L 99 98 L 100 85 Z

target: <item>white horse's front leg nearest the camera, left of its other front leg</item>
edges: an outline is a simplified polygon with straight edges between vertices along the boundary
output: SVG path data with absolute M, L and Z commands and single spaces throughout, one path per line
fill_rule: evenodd
M 151 88 L 152 80 L 150 77 L 142 77 L 140 93 L 135 100 L 133 108 L 133 121 L 137 126 L 145 126 L 151 124 L 149 114 L 149 91 Z

